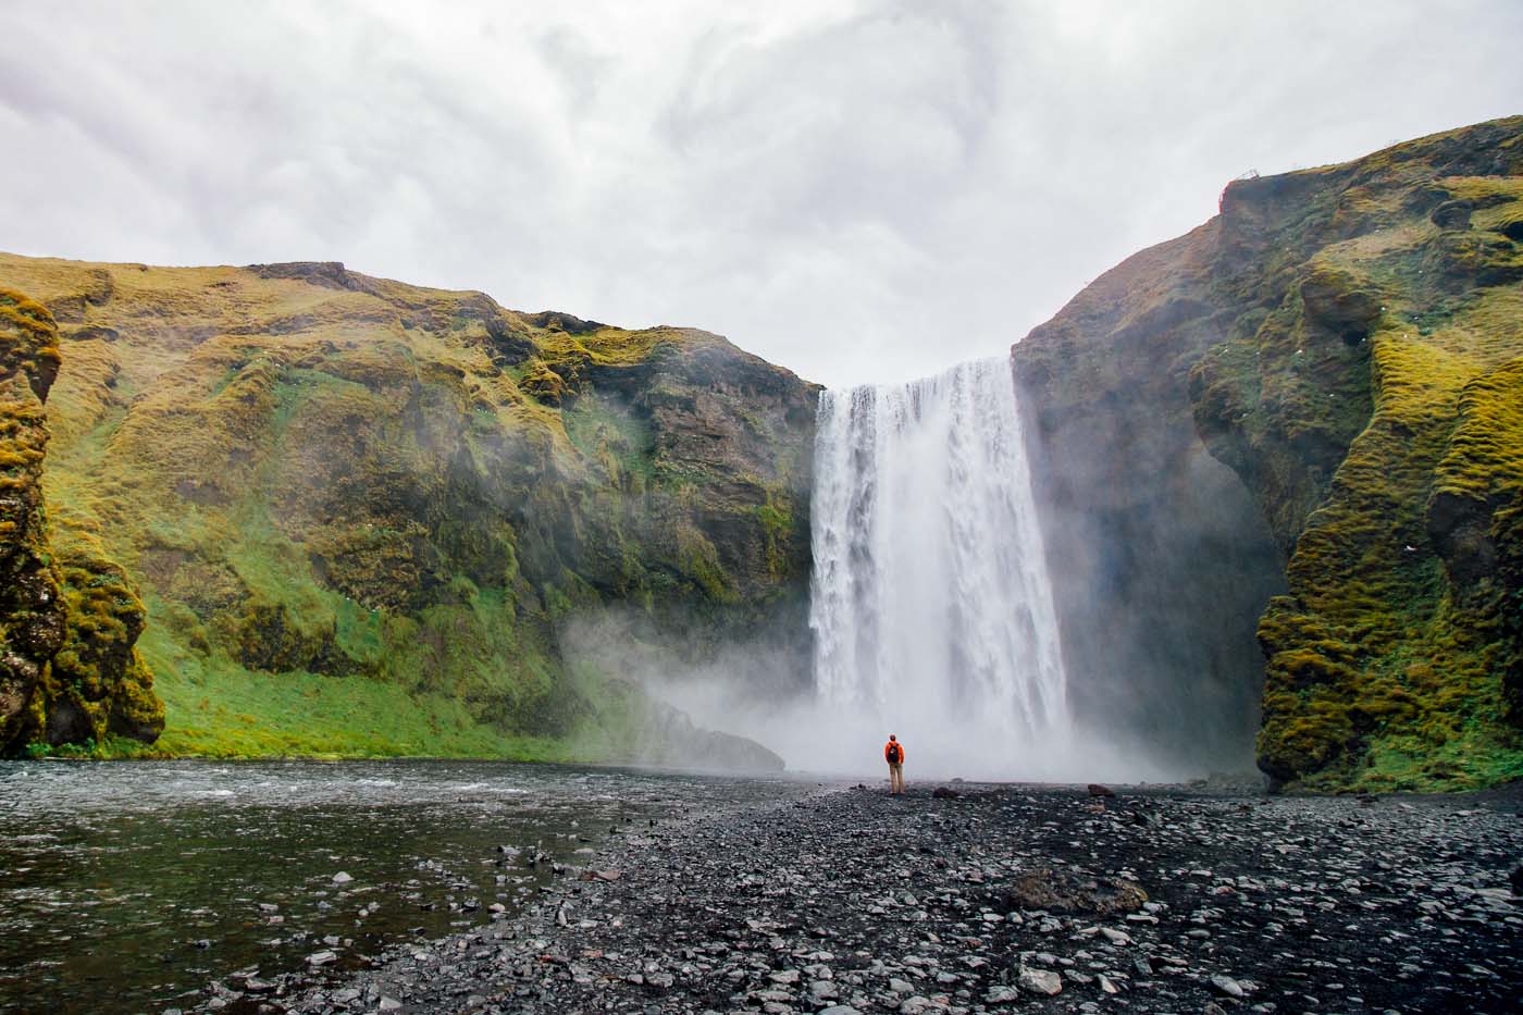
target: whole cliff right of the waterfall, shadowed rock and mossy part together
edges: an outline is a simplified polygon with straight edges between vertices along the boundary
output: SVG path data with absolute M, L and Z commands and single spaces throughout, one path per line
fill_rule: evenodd
M 1261 680 L 1279 783 L 1523 776 L 1520 244 L 1512 117 L 1235 181 L 1016 346 L 1092 696 L 1194 628 L 1154 692 Z

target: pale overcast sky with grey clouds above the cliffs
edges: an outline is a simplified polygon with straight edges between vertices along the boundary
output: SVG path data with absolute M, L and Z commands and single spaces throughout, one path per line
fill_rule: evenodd
M 0 248 L 344 261 L 830 386 L 1001 352 L 1244 171 L 1523 113 L 1512 0 L 0 15 Z

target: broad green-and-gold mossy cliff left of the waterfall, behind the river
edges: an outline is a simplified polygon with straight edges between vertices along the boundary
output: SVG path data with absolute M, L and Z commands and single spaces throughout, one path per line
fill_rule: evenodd
M 609 605 L 694 658 L 786 632 L 807 680 L 815 389 L 717 335 L 338 264 L 0 255 L 0 283 L 59 331 L 56 658 L 142 631 L 158 750 L 626 757 L 672 722 L 562 645 Z

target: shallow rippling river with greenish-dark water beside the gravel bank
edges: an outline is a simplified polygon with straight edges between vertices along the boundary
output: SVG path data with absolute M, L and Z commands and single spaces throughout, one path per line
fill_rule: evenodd
M 553 876 L 536 850 L 580 866 L 652 820 L 813 788 L 501 762 L 0 762 L 0 1012 L 189 1009 L 210 980 L 323 951 L 338 974 L 510 914 Z

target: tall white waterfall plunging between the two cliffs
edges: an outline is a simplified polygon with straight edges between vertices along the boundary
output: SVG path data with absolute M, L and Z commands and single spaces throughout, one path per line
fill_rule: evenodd
M 911 762 L 1051 774 L 1071 722 L 1010 361 L 824 392 L 815 440 L 819 707 Z

